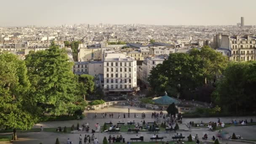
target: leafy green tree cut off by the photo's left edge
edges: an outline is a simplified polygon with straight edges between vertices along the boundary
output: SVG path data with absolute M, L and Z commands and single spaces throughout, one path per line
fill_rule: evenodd
M 30 94 L 25 62 L 0 53 L 0 125 L 27 130 L 37 122 L 37 107 Z M 16 130 L 13 131 L 14 135 Z

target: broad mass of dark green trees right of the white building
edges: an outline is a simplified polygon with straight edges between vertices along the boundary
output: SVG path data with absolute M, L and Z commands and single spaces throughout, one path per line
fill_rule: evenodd
M 256 62 L 228 62 L 209 47 L 190 53 L 171 53 L 150 72 L 152 91 L 163 96 L 213 102 L 223 111 L 254 112 L 256 106 Z

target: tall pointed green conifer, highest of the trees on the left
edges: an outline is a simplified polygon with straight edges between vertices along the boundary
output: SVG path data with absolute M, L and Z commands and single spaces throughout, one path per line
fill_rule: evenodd
M 32 94 L 43 114 L 65 115 L 78 109 L 77 80 L 65 49 L 52 42 L 48 50 L 30 51 L 25 61 Z

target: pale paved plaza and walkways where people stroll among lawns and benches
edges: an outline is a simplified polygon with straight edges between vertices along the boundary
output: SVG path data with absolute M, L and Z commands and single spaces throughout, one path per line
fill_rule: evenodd
M 130 108 L 131 116 L 130 118 L 127 118 L 128 114 L 128 108 Z M 93 118 L 95 115 L 95 112 L 97 113 L 97 118 Z M 101 118 L 101 113 L 107 112 L 107 118 Z M 155 111 L 151 109 L 144 109 L 139 107 L 128 107 L 128 106 L 115 106 L 115 107 L 109 107 L 105 109 L 100 110 L 92 110 L 89 112 L 85 112 L 86 118 L 83 120 L 69 120 L 69 121 L 53 121 L 53 122 L 41 122 L 34 126 L 34 128 L 39 128 L 41 125 L 44 128 L 57 128 L 59 126 L 64 127 L 71 127 L 71 125 L 77 125 L 77 123 L 83 124 L 88 123 L 91 128 L 95 128 L 95 124 L 99 123 L 99 125 L 103 125 L 105 122 L 112 122 L 117 123 L 119 121 L 124 121 L 127 123 L 127 121 L 135 121 L 140 122 L 141 119 L 141 113 L 144 112 L 146 114 L 146 118 L 144 119 L 145 122 L 154 122 L 155 119 L 151 118 L 152 112 L 160 112 Z M 109 118 L 109 113 L 114 114 L 114 118 Z M 118 119 L 118 113 L 120 113 L 120 119 Z M 123 118 L 123 114 L 125 113 L 125 117 Z M 134 118 L 134 113 L 139 116 L 139 118 Z M 166 112 L 164 112 L 166 113 Z M 250 120 L 253 118 L 253 120 L 256 120 L 256 117 L 220 117 L 221 122 L 224 123 L 230 122 L 232 119 L 236 120 Z M 163 118 L 159 118 L 160 122 L 163 120 Z M 192 128 L 192 131 L 188 131 L 187 125 L 185 123 L 189 123 L 189 121 L 194 121 L 194 123 L 200 123 L 203 122 L 210 122 L 210 121 L 217 121 L 217 117 L 211 117 L 211 118 L 183 118 L 182 119 L 183 124 L 179 125 L 179 128 L 184 131 L 178 131 L 178 133 L 182 133 L 183 136 L 185 136 L 185 140 L 187 140 L 187 136 L 191 134 L 192 136 L 195 136 L 198 134 L 200 140 L 202 140 L 202 137 L 205 133 L 208 134 L 208 138 L 211 139 L 212 136 L 216 136 L 217 132 L 211 132 L 208 131 L 206 128 Z M 223 131 L 227 131 L 229 135 L 232 135 L 233 132 L 235 132 L 236 135 L 242 136 L 244 139 L 256 139 L 256 125 L 253 126 L 233 126 L 229 128 L 225 128 Z M 42 142 L 43 144 L 54 144 L 56 138 L 59 138 L 61 144 L 66 144 L 67 138 L 71 139 L 74 143 L 73 144 L 79 144 L 78 137 L 80 133 L 70 133 L 70 134 L 64 134 L 64 133 L 52 133 L 52 132 L 24 132 L 24 133 L 18 133 L 19 140 L 13 142 L 14 144 L 39 144 Z M 91 135 L 92 133 L 81 133 L 83 138 L 85 134 Z M 135 138 L 136 134 L 128 134 L 126 132 L 120 132 L 120 133 L 111 133 L 111 135 L 122 135 L 125 138 L 125 141 L 129 141 L 130 138 Z M 139 132 L 139 136 L 144 136 L 144 141 L 150 141 L 150 137 L 152 137 L 153 133 L 148 132 Z M 164 141 L 171 141 L 171 137 L 174 136 L 174 132 L 159 132 L 159 137 L 164 137 Z M 99 140 L 99 144 L 102 144 L 102 141 L 104 139 L 104 136 L 108 138 L 109 133 L 95 133 L 95 137 Z M 234 141 L 221 141 L 224 144 L 240 144 L 241 142 L 234 142 Z M 207 143 L 207 142 L 205 142 Z M 245 143 L 243 143 L 245 144 Z

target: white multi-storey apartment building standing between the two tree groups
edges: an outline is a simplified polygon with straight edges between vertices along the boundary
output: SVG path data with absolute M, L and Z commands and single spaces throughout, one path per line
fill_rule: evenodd
M 104 59 L 104 93 L 120 95 L 136 91 L 136 70 L 134 58 L 109 53 Z

